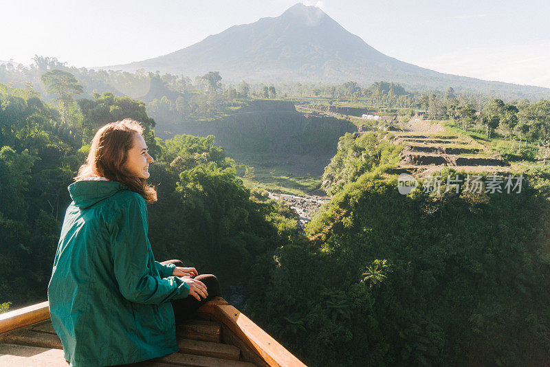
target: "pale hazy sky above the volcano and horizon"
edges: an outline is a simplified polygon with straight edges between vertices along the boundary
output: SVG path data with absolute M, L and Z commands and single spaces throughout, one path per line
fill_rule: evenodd
M 296 0 L 9 1 L 0 60 L 34 54 L 77 67 L 168 54 Z M 323 0 L 317 5 L 388 56 L 448 74 L 550 87 L 550 1 Z

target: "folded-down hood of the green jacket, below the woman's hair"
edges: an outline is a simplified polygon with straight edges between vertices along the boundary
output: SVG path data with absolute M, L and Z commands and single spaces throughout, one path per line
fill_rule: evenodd
M 129 190 L 128 186 L 118 181 L 82 180 L 73 182 L 67 187 L 69 194 L 80 209 L 87 209 L 120 190 Z

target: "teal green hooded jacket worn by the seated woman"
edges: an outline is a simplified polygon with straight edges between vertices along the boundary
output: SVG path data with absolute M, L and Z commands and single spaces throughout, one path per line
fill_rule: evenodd
M 47 287 L 52 325 L 71 366 L 112 366 L 179 349 L 170 299 L 189 286 L 155 261 L 145 200 L 117 181 L 69 186 Z

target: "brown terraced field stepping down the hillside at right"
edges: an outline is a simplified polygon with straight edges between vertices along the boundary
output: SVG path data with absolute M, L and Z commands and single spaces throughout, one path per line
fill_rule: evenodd
M 469 137 L 445 133 L 396 132 L 394 144 L 405 146 L 394 173 L 426 177 L 443 167 L 472 173 L 509 173 L 511 165 Z

